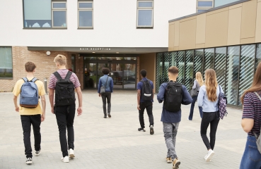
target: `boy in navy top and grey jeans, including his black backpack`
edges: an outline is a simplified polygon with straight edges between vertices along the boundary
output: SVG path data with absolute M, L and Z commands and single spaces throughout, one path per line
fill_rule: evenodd
M 161 121 L 163 123 L 163 132 L 168 148 L 166 161 L 173 163 L 173 169 L 179 168 L 180 161 L 175 151 L 175 142 L 178 132 L 178 127 L 181 120 L 181 104 L 191 104 L 192 98 L 187 91 L 187 88 L 176 82 L 178 77 L 178 68 L 171 66 L 168 68 L 169 82 L 161 84 L 158 92 L 158 102 L 163 103 L 161 113 Z

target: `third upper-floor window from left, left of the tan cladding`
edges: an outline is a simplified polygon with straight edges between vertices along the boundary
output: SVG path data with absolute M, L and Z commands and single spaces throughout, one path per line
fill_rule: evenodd
M 137 27 L 153 27 L 153 1 L 137 1 Z

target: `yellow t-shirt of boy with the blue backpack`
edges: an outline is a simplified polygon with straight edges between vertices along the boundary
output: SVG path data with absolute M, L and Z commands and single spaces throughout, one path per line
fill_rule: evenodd
M 28 79 L 28 80 L 30 81 L 32 79 L 33 78 Z M 25 81 L 23 81 L 23 79 L 18 80 L 16 82 L 15 87 L 13 87 L 13 94 L 15 96 L 18 96 L 21 93 L 21 87 L 22 87 L 24 82 Z M 36 80 L 35 84 L 36 84 L 36 86 L 38 88 L 38 94 L 40 96 L 45 95 L 45 87 L 44 87 L 42 81 Z M 37 115 L 37 114 L 42 114 L 42 108 L 40 106 L 40 101 L 38 101 L 38 106 L 36 108 L 24 108 L 24 107 L 19 106 L 19 113 L 20 113 L 20 115 Z

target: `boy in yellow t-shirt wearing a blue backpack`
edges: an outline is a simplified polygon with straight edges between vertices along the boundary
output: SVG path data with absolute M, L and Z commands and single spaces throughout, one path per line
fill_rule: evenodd
M 33 62 L 25 63 L 26 77 L 18 80 L 13 88 L 13 103 L 16 111 L 21 115 L 23 127 L 23 143 L 25 145 L 26 164 L 33 163 L 32 146 L 30 141 L 31 125 L 35 137 L 35 156 L 40 155 L 41 133 L 40 125 L 45 120 L 45 87 L 40 80 L 34 77 L 36 65 Z M 20 106 L 17 97 L 21 94 Z M 33 96 L 33 97 L 32 97 Z M 40 107 L 39 96 L 42 102 Z

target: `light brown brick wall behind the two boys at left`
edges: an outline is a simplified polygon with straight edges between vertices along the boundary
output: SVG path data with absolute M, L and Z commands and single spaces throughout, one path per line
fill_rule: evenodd
M 35 70 L 35 77 L 37 77 L 37 79 L 44 82 L 45 77 L 47 77 L 47 85 L 49 83 L 50 75 L 57 70 L 53 62 L 54 57 L 57 56 L 57 54 L 66 56 L 66 68 L 71 68 L 71 53 L 67 51 L 51 51 L 50 56 L 47 56 L 46 51 L 28 51 L 26 46 L 13 46 L 12 53 L 13 80 L 0 80 L 0 92 L 11 92 L 16 84 L 16 81 L 26 76 L 24 65 L 28 61 L 32 61 L 36 64 L 37 68 Z M 79 61 L 83 59 L 79 59 L 77 56 L 78 54 L 76 54 L 76 70 L 79 69 Z M 76 75 L 79 77 L 79 80 L 83 86 L 83 70 L 80 68 L 80 72 L 76 73 Z

